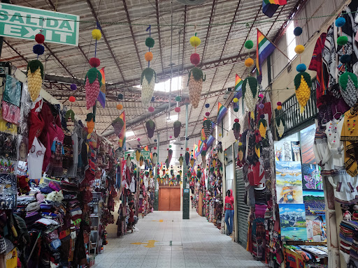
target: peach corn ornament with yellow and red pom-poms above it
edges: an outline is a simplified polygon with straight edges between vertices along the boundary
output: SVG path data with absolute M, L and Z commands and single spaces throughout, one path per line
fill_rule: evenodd
M 192 36 L 189 40 L 190 45 L 195 48 L 195 52 L 190 56 L 190 62 L 195 66 L 192 70 L 189 71 L 189 77 L 187 80 L 187 86 L 189 89 L 189 98 L 192 103 L 192 107 L 196 109 L 199 105 L 201 89 L 203 89 L 203 81 L 205 81 L 205 76 L 203 71 L 196 67 L 200 63 L 200 56 L 196 53 L 196 47 L 201 43 L 201 40 L 198 36 Z

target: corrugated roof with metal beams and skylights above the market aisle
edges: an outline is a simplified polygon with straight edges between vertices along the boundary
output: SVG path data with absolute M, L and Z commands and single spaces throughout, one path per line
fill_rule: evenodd
M 180 67 L 180 74 L 184 73 L 182 76 L 181 94 L 186 96 L 189 94 L 187 90 L 186 70 L 192 66 L 189 58 L 190 54 L 194 52 L 194 48 L 189 45 L 189 38 L 193 36 L 195 32 L 197 32 L 197 36 L 201 38 L 201 45 L 197 48 L 196 52 L 199 53 L 201 58 L 203 57 L 202 68 L 203 73 L 206 74 L 206 82 L 203 82 L 202 90 L 204 96 L 201 97 L 199 107 L 193 109 L 192 105 L 189 105 L 189 123 L 197 121 L 197 124 L 192 123 L 189 125 L 188 135 L 200 133 L 201 120 L 205 112 L 210 112 L 210 117 L 216 116 L 217 103 L 224 103 L 224 91 L 228 87 L 234 87 L 235 74 L 238 73 L 238 75 L 243 78 L 248 75 L 250 70 L 245 68 L 243 59 L 248 57 L 246 53 L 250 53 L 250 56 L 255 59 L 256 52 L 255 47 L 250 51 L 246 50 L 245 47 L 243 47 L 244 41 L 250 39 L 256 43 L 256 27 L 264 34 L 267 34 L 269 38 L 273 38 L 283 24 L 282 20 L 287 18 L 296 4 L 296 1 L 287 2 L 287 5 L 280 7 L 276 15 L 273 16 L 273 20 L 277 18 L 278 22 L 257 23 L 262 20 L 268 20 L 268 17 L 262 14 L 261 11 L 262 0 L 207 1 L 201 6 L 187 6 L 187 8 L 177 1 L 173 1 L 173 75 L 178 75 L 178 66 Z M 148 32 L 146 32 L 145 29 L 148 27 L 148 24 L 152 25 L 151 34 L 152 38 L 155 39 L 155 47 L 151 49 L 154 54 L 154 59 L 150 67 L 156 70 L 158 74 L 169 73 L 170 71 L 172 33 L 170 27 L 171 1 L 169 0 L 157 0 L 158 10 L 156 9 L 156 0 L 126 0 L 133 36 L 131 36 L 128 24 L 120 24 L 128 23 L 123 1 L 13 0 L 12 3 L 46 10 L 53 10 L 53 7 L 57 5 L 56 8 L 59 12 L 80 16 L 80 21 L 82 22 L 80 22 L 79 47 L 47 43 L 50 50 L 56 55 L 59 61 L 66 66 L 71 75 L 80 80 L 84 79 L 87 70 L 90 68 L 86 57 L 88 59 L 94 57 L 95 46 L 91 32 L 92 29 L 96 27 L 96 23 L 92 10 L 90 10 L 90 6 L 93 6 L 96 17 L 98 17 L 101 22 L 103 34 L 108 40 L 108 45 L 115 59 L 113 59 L 103 38 L 97 43 L 96 57 L 101 60 L 101 67 L 106 67 L 106 82 L 118 85 L 118 90 L 108 91 L 106 108 L 97 107 L 96 129 L 99 133 L 113 129 L 112 126 L 110 126 L 110 122 L 121 112 L 115 108 L 118 103 L 115 99 L 119 90 L 121 90 L 120 92 L 124 92 L 124 94 L 130 92 L 130 89 L 133 89 L 130 86 L 138 84 L 138 77 L 141 77 L 141 70 L 147 65 L 144 60 L 144 54 L 148 51 L 148 47 L 145 46 L 145 38 L 148 37 Z M 234 17 L 236 8 L 238 8 L 238 11 Z M 157 11 L 159 18 L 157 18 Z M 213 17 L 211 17 L 212 25 L 209 26 L 210 14 L 213 14 Z M 187 25 L 184 27 L 185 18 Z M 157 27 L 157 19 L 159 19 L 159 27 Z M 231 22 L 233 21 L 240 24 L 234 24 L 231 27 Z M 118 24 L 108 24 L 108 22 L 117 22 Z M 247 25 L 245 24 L 246 22 L 248 22 Z M 252 22 L 255 22 L 253 27 L 251 27 Z M 195 24 L 196 29 L 194 27 Z M 158 30 L 160 31 L 161 40 L 159 40 Z M 207 34 L 208 40 L 205 40 Z M 184 39 L 185 43 L 183 44 Z M 36 55 L 32 52 L 32 47 L 35 44 L 33 41 L 6 38 L 6 42 L 27 59 L 27 61 L 36 58 Z M 160 53 L 159 42 L 162 46 L 162 54 Z M 204 44 L 206 44 L 206 46 Z M 135 45 L 138 49 L 139 57 L 141 57 L 142 66 L 139 64 Z M 178 51 L 178 45 L 180 45 L 180 51 Z M 235 59 L 234 63 L 226 60 L 240 56 L 239 53 L 245 55 L 245 57 L 243 59 Z M 21 70 L 26 69 L 27 62 L 19 57 L 8 45 L 4 44 L 1 59 L 10 58 L 12 58 L 11 61 L 14 66 L 17 66 L 17 68 Z M 40 58 L 44 63 L 46 74 L 59 77 L 71 77 L 59 61 L 51 56 L 48 50 L 45 50 L 45 54 Z M 123 86 L 123 77 L 120 74 L 115 60 L 122 70 L 124 80 L 126 81 L 125 87 Z M 215 61 L 218 67 L 213 66 L 213 64 L 208 64 L 213 61 Z M 75 80 L 73 80 L 73 82 L 75 82 Z M 210 92 L 219 90 L 222 91 L 222 94 L 208 95 Z M 85 119 L 87 112 L 90 112 L 86 110 L 85 107 L 85 94 L 71 92 L 68 89 L 59 89 L 57 87 L 49 88 L 48 91 L 50 94 L 61 99 L 62 103 L 71 107 L 82 120 Z M 66 101 L 66 98 L 73 94 L 78 98 L 78 101 L 70 104 L 69 101 Z M 162 95 L 167 96 L 168 93 Z M 174 97 L 175 95 L 173 94 L 172 98 Z M 206 103 L 210 104 L 208 109 L 204 107 Z M 124 105 L 127 121 L 136 122 L 139 119 L 142 121 L 142 124 L 134 124 L 132 129 L 136 137 L 141 138 L 141 141 L 138 142 L 135 139 L 129 139 L 132 140 L 129 142 L 131 147 L 136 147 L 137 144 L 154 143 L 152 140 L 156 137 L 153 137 L 152 140 L 148 140 L 146 136 L 146 119 L 152 118 L 157 125 L 157 129 L 164 129 L 173 125 L 173 121 L 169 122 L 167 120 L 166 113 L 155 116 L 155 112 L 152 114 L 152 117 L 143 117 L 143 114 L 148 111 L 142 107 L 139 97 L 138 99 L 132 98 L 131 101 L 125 101 L 122 104 Z M 152 105 L 159 108 L 163 107 L 163 103 L 152 103 Z M 180 103 L 180 105 L 182 105 L 182 111 L 180 112 L 179 120 L 184 123 L 185 105 L 183 105 L 183 103 Z M 171 115 L 173 114 L 176 114 L 176 112 L 172 110 Z M 183 136 L 184 133 L 185 128 L 182 128 L 181 136 Z M 173 131 L 160 133 L 160 140 L 170 140 L 170 135 L 173 135 Z

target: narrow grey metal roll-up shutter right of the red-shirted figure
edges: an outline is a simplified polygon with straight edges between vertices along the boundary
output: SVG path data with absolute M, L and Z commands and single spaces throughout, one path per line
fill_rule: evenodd
M 244 202 L 245 197 L 245 184 L 243 182 L 243 169 L 236 167 L 236 202 L 238 217 L 238 244 L 246 248 L 248 243 L 248 215 L 250 213 L 250 207 Z

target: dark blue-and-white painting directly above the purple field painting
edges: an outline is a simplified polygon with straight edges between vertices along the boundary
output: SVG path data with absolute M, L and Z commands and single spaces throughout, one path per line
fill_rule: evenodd
M 323 191 L 321 167 L 313 164 L 302 164 L 302 188 L 303 190 Z

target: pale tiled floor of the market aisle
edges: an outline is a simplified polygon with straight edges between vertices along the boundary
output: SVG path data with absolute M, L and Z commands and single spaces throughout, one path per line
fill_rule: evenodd
M 140 218 L 136 228 L 139 232 L 108 239 L 94 268 L 264 267 L 196 211 L 189 220 L 182 220 L 181 211 L 155 211 Z M 155 246 L 145 247 L 150 240 L 157 241 Z

